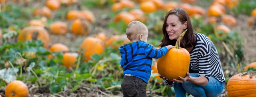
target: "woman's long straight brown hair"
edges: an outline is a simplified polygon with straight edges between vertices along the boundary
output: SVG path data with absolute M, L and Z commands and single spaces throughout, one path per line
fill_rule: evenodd
M 179 21 L 181 22 L 181 24 L 184 24 L 186 21 L 188 21 L 187 24 L 187 32 L 184 34 L 183 38 L 180 40 L 180 47 L 181 48 L 189 48 L 195 45 L 196 43 L 196 38 L 194 37 L 194 33 L 193 33 L 193 27 L 190 21 L 190 18 L 188 16 L 187 11 L 185 11 L 182 8 L 175 8 L 172 9 L 171 11 L 169 11 L 164 19 L 164 24 L 163 24 L 163 34 L 164 37 L 161 40 L 161 44 L 159 45 L 161 48 L 167 45 L 172 45 L 175 46 L 175 43 L 177 40 L 170 40 L 169 39 L 169 35 L 166 32 L 165 28 L 166 28 L 166 20 L 168 18 L 169 15 L 176 15 L 177 17 L 179 17 Z

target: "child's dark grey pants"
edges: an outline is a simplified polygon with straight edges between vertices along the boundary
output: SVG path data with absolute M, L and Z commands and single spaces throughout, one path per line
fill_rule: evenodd
M 124 97 L 147 97 L 145 81 L 135 76 L 124 76 L 121 87 Z

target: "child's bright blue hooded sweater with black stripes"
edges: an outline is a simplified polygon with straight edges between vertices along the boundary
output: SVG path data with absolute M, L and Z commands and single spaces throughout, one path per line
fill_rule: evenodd
M 156 49 L 152 45 L 137 41 L 119 47 L 121 67 L 124 75 L 130 74 L 148 83 L 151 75 L 152 58 L 160 58 L 168 51 L 166 47 Z

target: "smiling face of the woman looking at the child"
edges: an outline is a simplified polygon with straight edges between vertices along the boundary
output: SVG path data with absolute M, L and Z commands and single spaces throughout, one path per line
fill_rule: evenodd
M 166 20 L 166 32 L 169 35 L 170 40 L 178 40 L 180 34 L 187 28 L 187 21 L 181 24 L 179 17 L 176 15 L 169 15 Z

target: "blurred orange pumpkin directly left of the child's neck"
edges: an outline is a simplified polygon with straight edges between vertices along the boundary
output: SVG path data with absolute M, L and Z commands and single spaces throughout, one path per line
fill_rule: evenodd
M 117 41 L 121 41 L 122 43 L 117 44 Z M 130 40 L 127 38 L 126 34 L 122 34 L 122 35 L 113 35 L 110 38 L 108 38 L 105 41 L 105 47 L 112 47 L 116 50 L 118 50 L 118 48 L 124 44 L 130 43 Z

